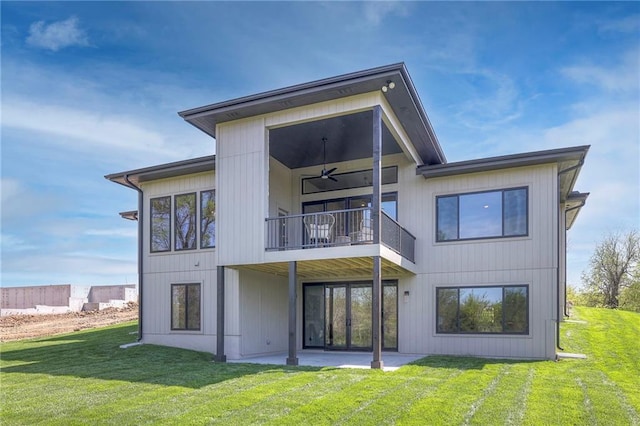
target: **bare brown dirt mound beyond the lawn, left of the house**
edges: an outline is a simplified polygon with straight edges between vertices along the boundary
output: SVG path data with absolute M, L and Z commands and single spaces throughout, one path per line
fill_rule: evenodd
M 9 315 L 0 317 L 0 342 L 70 333 L 138 319 L 138 304 L 101 311 L 52 315 Z

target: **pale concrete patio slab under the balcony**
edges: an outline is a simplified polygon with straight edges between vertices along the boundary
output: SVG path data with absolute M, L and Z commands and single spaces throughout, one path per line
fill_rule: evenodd
M 424 356 L 425 355 L 383 352 L 383 370 L 395 371 L 403 365 L 423 358 Z M 273 355 L 228 360 L 227 362 L 285 365 L 286 359 L 287 353 L 282 352 Z M 329 352 L 310 350 L 298 352 L 298 365 L 308 367 L 371 368 L 371 360 L 372 354 L 370 352 Z

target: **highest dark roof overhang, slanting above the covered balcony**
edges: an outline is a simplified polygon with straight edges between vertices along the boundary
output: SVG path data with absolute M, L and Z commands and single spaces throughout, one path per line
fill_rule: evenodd
M 220 123 L 379 91 L 388 81 L 393 81 L 395 88 L 386 92 L 386 99 L 423 163 L 446 163 L 440 142 L 404 63 L 258 93 L 178 114 L 188 123 L 215 137 L 216 126 Z

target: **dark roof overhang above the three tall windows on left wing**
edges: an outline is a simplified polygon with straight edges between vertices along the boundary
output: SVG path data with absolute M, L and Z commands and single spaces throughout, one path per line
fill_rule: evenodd
M 137 188 L 141 183 L 151 180 L 165 179 L 176 176 L 202 173 L 215 170 L 215 155 L 192 158 L 190 160 L 176 161 L 160 164 L 142 169 L 106 175 L 105 179 L 129 188 Z

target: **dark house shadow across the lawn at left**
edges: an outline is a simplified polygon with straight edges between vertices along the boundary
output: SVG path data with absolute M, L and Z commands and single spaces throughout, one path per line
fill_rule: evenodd
M 319 371 L 318 367 L 214 363 L 212 355 L 186 349 L 140 345 L 137 325 L 118 325 L 73 334 L 3 343 L 2 374 L 46 374 L 98 380 L 201 388 L 247 375 Z

